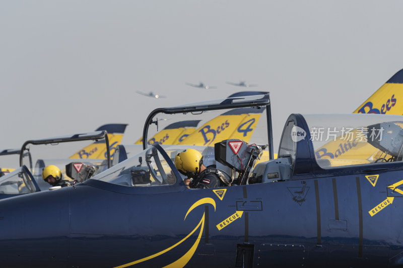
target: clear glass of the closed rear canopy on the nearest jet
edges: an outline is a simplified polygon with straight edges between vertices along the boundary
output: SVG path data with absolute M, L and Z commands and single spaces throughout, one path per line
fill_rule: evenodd
M 401 161 L 403 117 L 304 115 L 319 166 Z

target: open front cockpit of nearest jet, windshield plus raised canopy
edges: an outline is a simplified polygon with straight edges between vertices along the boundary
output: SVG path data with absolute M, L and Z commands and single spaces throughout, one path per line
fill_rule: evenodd
M 173 160 L 176 154 L 191 148 L 203 155 L 204 165 L 217 167 L 233 181 L 237 174 L 231 173 L 225 161 L 216 160 L 215 144 L 237 139 L 267 147 L 272 144 L 269 118 L 270 98 L 266 93 L 156 109 L 146 120 L 143 137 L 135 144 L 143 144 L 144 150 L 140 152 L 138 146 L 118 147 L 113 166 L 94 180 L 142 188 L 183 185 Z M 269 149 L 262 154 L 262 159 L 270 159 Z

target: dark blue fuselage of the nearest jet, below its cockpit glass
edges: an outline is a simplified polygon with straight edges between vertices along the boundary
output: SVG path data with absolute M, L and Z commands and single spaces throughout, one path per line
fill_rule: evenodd
M 380 173 L 375 187 L 361 174 L 234 186 L 220 188 L 222 200 L 217 189 L 89 180 L 0 201 L 0 263 L 115 267 L 151 256 L 135 266 L 165 266 L 187 254 L 191 267 L 235 267 L 246 248 L 256 267 L 397 266 L 403 199 L 369 211 L 401 177 L 401 170 Z M 202 220 L 202 230 L 169 249 Z

